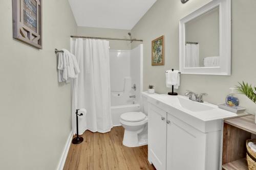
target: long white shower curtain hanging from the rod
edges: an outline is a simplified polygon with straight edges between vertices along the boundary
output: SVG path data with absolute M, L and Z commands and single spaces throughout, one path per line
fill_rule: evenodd
M 109 41 L 72 39 L 71 52 L 76 56 L 80 74 L 72 81 L 72 130 L 76 133 L 75 111 L 86 108 L 79 118 L 79 132 L 105 133 L 113 127 L 110 105 Z

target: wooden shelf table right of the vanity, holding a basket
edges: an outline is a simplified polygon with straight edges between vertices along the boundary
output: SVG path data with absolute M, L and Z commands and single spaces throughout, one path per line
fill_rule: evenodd
M 246 140 L 256 138 L 254 115 L 224 120 L 222 168 L 247 170 Z

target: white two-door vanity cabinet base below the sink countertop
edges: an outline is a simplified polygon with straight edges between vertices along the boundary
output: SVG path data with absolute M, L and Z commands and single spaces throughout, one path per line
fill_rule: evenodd
M 157 170 L 219 169 L 221 131 L 202 132 L 172 112 L 148 103 L 148 161 Z

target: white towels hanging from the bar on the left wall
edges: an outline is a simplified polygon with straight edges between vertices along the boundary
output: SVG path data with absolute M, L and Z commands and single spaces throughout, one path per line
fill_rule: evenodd
M 70 78 L 77 78 L 80 72 L 76 57 L 66 49 L 58 53 L 58 81 L 70 82 Z

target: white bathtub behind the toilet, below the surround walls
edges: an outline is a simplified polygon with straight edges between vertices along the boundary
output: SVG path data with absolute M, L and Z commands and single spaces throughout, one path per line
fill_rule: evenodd
M 121 126 L 119 119 L 122 113 L 137 112 L 140 110 L 141 108 L 139 104 L 111 106 L 113 126 Z

